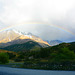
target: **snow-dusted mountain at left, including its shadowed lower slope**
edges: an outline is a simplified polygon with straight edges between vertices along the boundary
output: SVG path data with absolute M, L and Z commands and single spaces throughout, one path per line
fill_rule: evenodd
M 32 33 L 17 30 L 6 30 L 0 32 L 0 47 L 6 47 L 12 44 L 22 44 L 31 40 L 39 43 L 42 47 L 50 46 L 46 41 L 34 36 Z

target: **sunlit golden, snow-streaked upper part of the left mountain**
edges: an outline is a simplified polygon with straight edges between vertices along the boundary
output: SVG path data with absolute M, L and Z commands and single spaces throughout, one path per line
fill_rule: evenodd
M 16 40 L 18 40 L 18 42 L 21 42 L 19 40 L 25 40 L 24 42 L 26 42 L 27 39 L 38 42 L 42 46 L 49 46 L 47 42 L 30 32 L 21 32 L 15 29 L 9 29 L 0 33 L 0 43 L 8 43 Z

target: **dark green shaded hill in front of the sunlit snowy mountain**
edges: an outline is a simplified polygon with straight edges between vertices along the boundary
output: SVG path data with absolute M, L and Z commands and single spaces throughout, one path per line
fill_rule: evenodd
M 23 51 L 23 50 L 33 50 L 35 48 L 41 48 L 41 47 L 42 46 L 40 46 L 37 42 L 28 41 L 23 44 L 10 45 L 10 46 L 4 47 L 2 49 L 18 52 L 18 51 Z

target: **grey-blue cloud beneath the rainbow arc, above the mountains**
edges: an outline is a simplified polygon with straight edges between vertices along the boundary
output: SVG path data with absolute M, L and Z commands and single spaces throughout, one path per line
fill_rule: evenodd
M 75 36 L 63 29 L 45 25 L 45 24 L 24 24 L 15 26 L 14 29 L 24 31 L 24 32 L 31 32 L 34 35 L 39 36 L 43 40 L 62 40 L 62 41 L 74 41 Z

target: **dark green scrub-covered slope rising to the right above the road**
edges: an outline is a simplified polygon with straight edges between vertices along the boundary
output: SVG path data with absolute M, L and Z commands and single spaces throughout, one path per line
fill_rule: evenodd
M 57 46 L 7 52 L 9 60 L 22 62 L 21 68 L 47 70 L 75 70 L 75 43 L 62 43 Z M 15 67 L 18 67 L 17 65 Z

